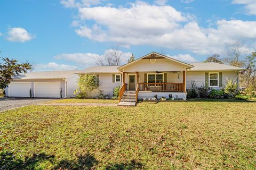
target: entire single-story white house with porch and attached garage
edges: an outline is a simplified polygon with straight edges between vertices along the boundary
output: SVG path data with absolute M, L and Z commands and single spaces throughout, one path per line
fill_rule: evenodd
M 58 90 L 62 87 L 63 96 L 72 97 L 78 75 L 93 74 L 99 89 L 92 92 L 92 97 L 98 96 L 99 90 L 105 95 L 113 95 L 113 89 L 121 86 L 120 98 L 123 101 L 134 102 L 154 95 L 168 98 L 170 94 L 186 99 L 186 89 L 191 88 L 191 81 L 195 81 L 198 87 L 208 84 L 211 88 L 221 89 L 229 79 L 239 84 L 238 74 L 242 70 L 240 67 L 218 63 L 184 63 L 152 52 L 122 66 L 27 73 L 12 80 L 9 96 L 29 97 L 27 91 L 32 89 L 34 97 L 59 97 Z

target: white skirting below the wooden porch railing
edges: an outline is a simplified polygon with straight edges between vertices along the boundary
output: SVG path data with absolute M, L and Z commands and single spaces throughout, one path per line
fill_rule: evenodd
M 139 92 L 138 99 L 153 98 L 154 95 L 157 95 L 158 98 L 169 98 L 170 94 L 172 94 L 172 98 L 176 98 L 176 95 L 178 95 L 178 98 L 185 98 L 184 92 Z

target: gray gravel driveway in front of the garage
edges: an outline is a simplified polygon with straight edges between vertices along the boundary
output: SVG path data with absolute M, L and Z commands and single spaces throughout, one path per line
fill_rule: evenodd
M 54 99 L 3 97 L 3 98 L 0 98 L 0 112 L 18 108 L 18 107 L 34 105 L 34 104 L 38 104 L 38 103 L 42 103 L 50 100 L 54 100 Z

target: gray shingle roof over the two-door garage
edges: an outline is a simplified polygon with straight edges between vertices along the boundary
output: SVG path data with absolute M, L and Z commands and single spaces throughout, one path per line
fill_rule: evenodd
M 79 70 L 69 71 L 43 71 L 43 72 L 30 72 L 23 75 L 13 77 L 13 80 L 28 80 L 28 79 L 65 79 L 79 72 Z

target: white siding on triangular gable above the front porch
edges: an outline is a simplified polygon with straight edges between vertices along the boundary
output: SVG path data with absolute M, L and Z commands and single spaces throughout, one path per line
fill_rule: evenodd
M 149 59 L 142 59 L 138 62 L 124 67 L 124 72 L 143 72 L 143 71 L 182 71 L 185 66 L 173 62 L 169 59 L 161 58 L 157 59 L 155 63 L 151 63 Z

